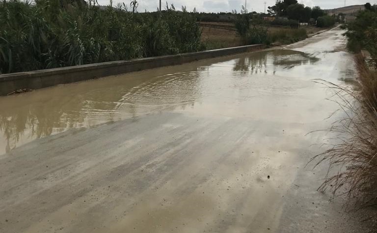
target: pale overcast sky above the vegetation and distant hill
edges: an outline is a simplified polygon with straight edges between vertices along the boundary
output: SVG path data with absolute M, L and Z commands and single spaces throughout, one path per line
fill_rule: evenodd
M 113 4 L 117 2 L 125 2 L 130 5 L 130 0 L 113 0 Z M 267 6 L 274 4 L 275 0 L 247 0 L 248 11 L 264 12 L 264 2 Z M 156 11 L 159 7 L 159 0 L 138 0 L 138 11 Z M 332 9 L 337 7 L 343 7 L 344 0 L 298 0 L 299 3 L 303 3 L 307 6 L 321 6 L 323 9 Z M 346 0 L 346 5 L 358 5 L 365 4 L 368 0 Z M 376 4 L 377 0 L 369 0 L 370 3 Z M 108 5 L 109 0 L 98 0 L 100 5 Z M 229 12 L 232 9 L 240 11 L 241 5 L 245 4 L 244 0 L 168 0 L 169 5 L 174 4 L 176 8 L 181 8 L 182 5 L 187 6 L 189 11 L 192 11 L 196 7 L 197 11 L 204 12 Z M 162 0 L 162 6 L 166 5 L 166 0 Z

